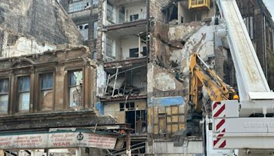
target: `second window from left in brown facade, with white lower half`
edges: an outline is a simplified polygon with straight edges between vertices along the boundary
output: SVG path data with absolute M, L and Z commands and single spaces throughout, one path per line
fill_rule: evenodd
M 30 77 L 18 77 L 18 110 L 29 110 Z

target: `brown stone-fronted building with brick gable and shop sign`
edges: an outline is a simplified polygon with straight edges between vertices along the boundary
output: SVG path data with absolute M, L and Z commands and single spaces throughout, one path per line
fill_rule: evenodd
M 93 109 L 96 65 L 58 1 L 1 1 L 0 18 L 0 155 L 122 148 L 130 129 Z

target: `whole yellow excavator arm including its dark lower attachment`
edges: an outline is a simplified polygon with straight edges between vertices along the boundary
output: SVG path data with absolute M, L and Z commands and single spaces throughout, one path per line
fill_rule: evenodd
M 206 89 L 210 101 L 204 101 L 203 90 Z M 197 53 L 190 56 L 190 92 L 186 130 L 184 136 L 201 135 L 199 122 L 203 114 L 210 115 L 212 101 L 238 99 L 234 88 L 227 85 Z

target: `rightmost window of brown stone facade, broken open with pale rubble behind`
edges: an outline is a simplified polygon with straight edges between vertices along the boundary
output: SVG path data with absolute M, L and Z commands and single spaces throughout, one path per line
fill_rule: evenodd
M 83 73 L 81 70 L 69 72 L 69 106 L 82 106 L 82 81 Z

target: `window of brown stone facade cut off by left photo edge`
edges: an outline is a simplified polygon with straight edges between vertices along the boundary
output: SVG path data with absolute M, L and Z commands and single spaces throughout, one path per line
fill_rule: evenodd
M 0 79 L 0 113 L 8 113 L 8 79 Z

